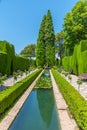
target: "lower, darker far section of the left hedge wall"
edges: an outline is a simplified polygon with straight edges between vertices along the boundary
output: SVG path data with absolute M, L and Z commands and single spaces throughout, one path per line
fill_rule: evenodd
M 29 68 L 29 59 L 16 55 L 14 58 L 14 71 L 27 70 Z

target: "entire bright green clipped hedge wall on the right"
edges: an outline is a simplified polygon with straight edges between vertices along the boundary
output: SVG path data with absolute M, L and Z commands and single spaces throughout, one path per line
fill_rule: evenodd
M 87 40 L 82 40 L 80 44 L 75 45 L 72 56 L 66 56 L 62 59 L 62 66 L 66 71 L 72 70 L 74 74 L 87 73 Z

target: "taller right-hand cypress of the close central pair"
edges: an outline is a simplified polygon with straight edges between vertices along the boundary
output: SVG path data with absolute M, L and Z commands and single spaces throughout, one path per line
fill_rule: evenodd
M 46 62 L 49 66 L 53 66 L 55 64 L 54 42 L 55 42 L 54 27 L 50 10 L 48 10 L 45 23 L 45 44 L 46 44 Z

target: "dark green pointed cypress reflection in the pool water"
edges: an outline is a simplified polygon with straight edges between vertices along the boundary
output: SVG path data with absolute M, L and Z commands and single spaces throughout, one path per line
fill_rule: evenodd
M 47 92 L 46 92 L 47 91 Z M 52 113 L 54 108 L 54 98 L 51 89 L 38 89 L 37 101 L 41 117 L 46 123 L 47 127 L 50 126 Z

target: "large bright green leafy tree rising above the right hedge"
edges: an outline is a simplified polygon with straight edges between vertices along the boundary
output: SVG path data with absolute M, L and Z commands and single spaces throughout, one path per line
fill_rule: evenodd
M 79 1 L 64 19 L 64 44 L 71 55 L 75 44 L 87 39 L 87 1 Z

